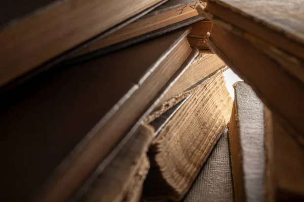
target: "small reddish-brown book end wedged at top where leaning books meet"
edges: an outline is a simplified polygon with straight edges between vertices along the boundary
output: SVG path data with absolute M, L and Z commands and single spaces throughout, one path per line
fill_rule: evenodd
M 209 50 L 204 38 L 207 32 L 211 31 L 212 24 L 212 21 L 201 20 L 190 25 L 192 31 L 188 34 L 187 38 L 191 47 L 197 47 L 205 51 Z

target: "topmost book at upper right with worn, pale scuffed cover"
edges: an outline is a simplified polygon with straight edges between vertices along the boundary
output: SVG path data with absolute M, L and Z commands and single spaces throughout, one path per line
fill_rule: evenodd
M 268 6 L 264 7 L 265 4 Z M 209 20 L 242 35 L 295 79 L 304 82 L 304 63 L 299 55 L 303 51 L 303 39 L 300 39 L 303 26 L 298 15 L 303 9 L 300 5 L 301 1 L 293 1 L 286 7 L 276 0 L 210 1 L 206 9 L 198 9 Z M 264 12 L 269 7 L 272 7 L 271 12 Z M 280 14 L 286 10 L 288 12 Z

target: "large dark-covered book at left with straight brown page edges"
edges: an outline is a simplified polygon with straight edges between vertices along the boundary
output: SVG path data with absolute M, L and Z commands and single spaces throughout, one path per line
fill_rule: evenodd
M 1 197 L 25 200 L 40 193 L 45 201 L 68 198 L 171 77 L 196 57 L 186 39 L 189 31 L 50 69 L 3 95 L 0 147 L 10 166 L 1 169 Z M 5 155 L 8 150 L 14 152 Z

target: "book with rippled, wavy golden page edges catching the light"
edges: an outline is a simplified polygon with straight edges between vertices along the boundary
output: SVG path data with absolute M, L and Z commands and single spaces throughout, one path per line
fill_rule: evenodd
M 145 199 L 184 197 L 225 128 L 231 107 L 221 72 L 205 78 L 150 145 Z

